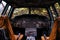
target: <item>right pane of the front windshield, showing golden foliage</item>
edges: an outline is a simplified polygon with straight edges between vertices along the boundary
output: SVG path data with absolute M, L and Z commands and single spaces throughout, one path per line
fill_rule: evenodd
M 43 16 L 49 17 L 48 12 L 45 8 L 32 8 L 31 14 L 38 14 L 38 15 L 43 15 Z

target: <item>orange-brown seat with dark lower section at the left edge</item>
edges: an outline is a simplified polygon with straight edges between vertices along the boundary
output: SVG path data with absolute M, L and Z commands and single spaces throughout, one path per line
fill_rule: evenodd
M 9 38 L 6 37 L 6 34 L 9 35 Z M 0 17 L 0 35 L 1 40 L 15 40 L 13 29 L 7 16 Z

